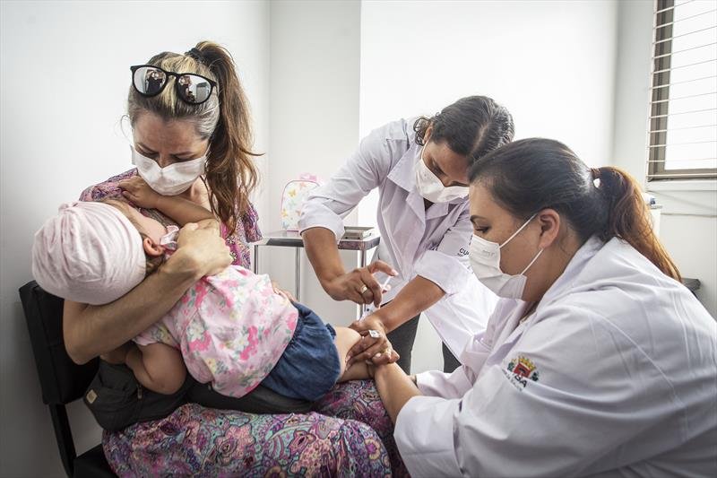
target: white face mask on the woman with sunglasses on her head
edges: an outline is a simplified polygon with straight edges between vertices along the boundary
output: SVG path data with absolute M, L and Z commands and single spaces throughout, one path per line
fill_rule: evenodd
M 177 196 L 184 193 L 194 184 L 196 178 L 204 174 L 207 153 L 191 161 L 173 162 L 160 168 L 157 161 L 152 160 L 132 149 L 132 164 L 137 167 L 140 176 L 147 181 L 152 189 L 162 196 Z

